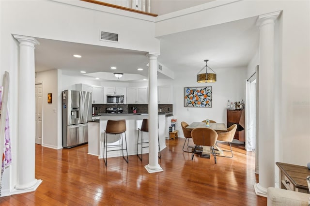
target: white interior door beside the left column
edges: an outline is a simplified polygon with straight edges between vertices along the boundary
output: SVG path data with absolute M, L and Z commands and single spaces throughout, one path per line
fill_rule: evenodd
M 35 84 L 35 144 L 42 145 L 42 84 Z

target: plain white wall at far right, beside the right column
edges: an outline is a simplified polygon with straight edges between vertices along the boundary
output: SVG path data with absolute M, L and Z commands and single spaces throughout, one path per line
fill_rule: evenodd
M 282 160 L 310 162 L 310 2 L 289 1 L 282 28 Z M 300 152 L 302 151 L 302 152 Z

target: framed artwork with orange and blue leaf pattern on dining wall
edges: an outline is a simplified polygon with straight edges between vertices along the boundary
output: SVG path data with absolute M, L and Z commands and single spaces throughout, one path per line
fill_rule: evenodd
M 185 107 L 212 107 L 212 87 L 184 88 Z

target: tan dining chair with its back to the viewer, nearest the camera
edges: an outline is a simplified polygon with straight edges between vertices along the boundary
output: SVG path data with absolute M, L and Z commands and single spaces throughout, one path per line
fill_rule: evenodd
M 194 158 L 194 154 L 196 153 L 196 148 L 198 146 L 209 146 L 210 153 L 213 154 L 214 161 L 215 163 L 217 163 L 217 155 L 214 150 L 214 146 L 217 142 L 217 132 L 210 128 L 196 128 L 192 130 L 191 136 L 195 144 L 192 160 Z

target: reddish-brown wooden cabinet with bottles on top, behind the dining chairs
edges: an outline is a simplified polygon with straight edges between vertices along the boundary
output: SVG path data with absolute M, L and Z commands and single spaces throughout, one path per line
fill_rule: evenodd
M 242 110 L 230 110 L 227 109 L 227 127 L 237 124 L 237 131 L 234 134 L 234 139 L 241 142 L 245 142 L 245 118 L 244 109 Z

